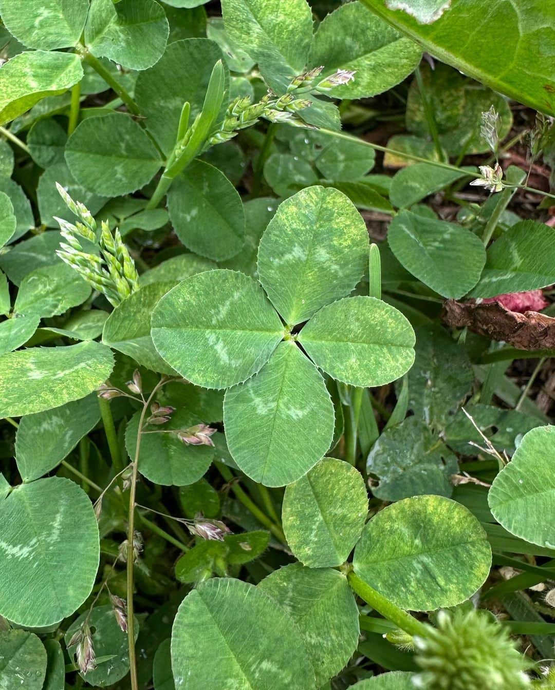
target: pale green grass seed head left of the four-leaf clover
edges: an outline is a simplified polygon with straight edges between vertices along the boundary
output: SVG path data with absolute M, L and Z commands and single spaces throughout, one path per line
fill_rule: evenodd
M 72 224 L 55 217 L 65 240 L 60 243 L 57 255 L 95 290 L 102 293 L 110 304 L 121 304 L 139 289 L 139 274 L 128 248 L 121 240 L 119 230 L 115 228 L 112 233 L 108 222 L 102 221 L 98 233 L 97 222 L 88 208 L 79 201 L 74 201 L 60 184 L 57 183 L 56 187 L 66 206 L 79 218 L 79 221 Z M 95 244 L 98 254 L 84 251 L 81 239 Z

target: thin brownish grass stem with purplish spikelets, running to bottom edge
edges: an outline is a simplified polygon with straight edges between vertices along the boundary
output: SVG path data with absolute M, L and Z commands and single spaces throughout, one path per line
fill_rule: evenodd
M 139 451 L 141 450 L 141 437 L 146 411 L 153 401 L 156 392 L 166 383 L 168 379 L 161 379 L 155 385 L 143 405 L 139 426 L 137 428 L 137 443 L 135 445 L 135 458 L 133 459 L 133 469 L 131 472 L 129 486 L 129 512 L 127 518 L 127 640 L 129 647 L 129 675 L 131 679 L 131 690 L 139 690 L 137 680 L 137 657 L 135 655 L 135 622 L 133 620 L 133 589 L 134 587 L 134 567 L 135 558 L 133 557 L 133 537 L 135 535 L 135 495 L 137 493 L 137 476 L 139 468 Z M 99 399 L 101 400 L 101 399 Z

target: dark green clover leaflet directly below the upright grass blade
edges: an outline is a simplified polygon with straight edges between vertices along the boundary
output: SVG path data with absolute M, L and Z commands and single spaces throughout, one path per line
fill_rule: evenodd
M 244 242 L 245 215 L 240 195 L 223 172 L 194 161 L 168 193 L 177 237 L 191 251 L 214 261 L 229 259 Z

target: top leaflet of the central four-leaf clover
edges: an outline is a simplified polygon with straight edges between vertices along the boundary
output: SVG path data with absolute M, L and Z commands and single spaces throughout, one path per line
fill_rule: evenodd
M 299 324 L 351 293 L 368 250 L 366 225 L 351 201 L 338 190 L 309 187 L 277 208 L 262 235 L 260 283 L 284 321 Z

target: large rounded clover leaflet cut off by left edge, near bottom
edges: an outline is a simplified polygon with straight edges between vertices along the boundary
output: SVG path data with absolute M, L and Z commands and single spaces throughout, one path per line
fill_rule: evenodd
M 25 627 L 67 618 L 97 574 L 93 504 L 61 477 L 16 486 L 0 503 L 0 554 L 0 615 Z

